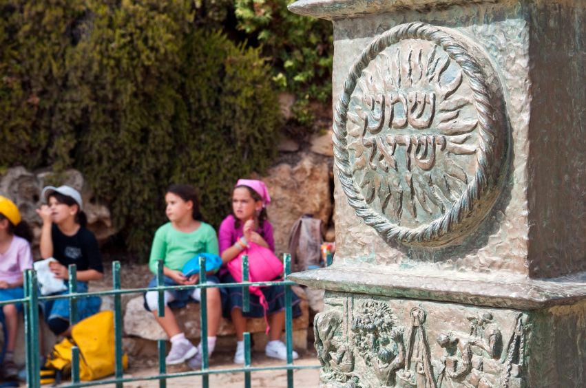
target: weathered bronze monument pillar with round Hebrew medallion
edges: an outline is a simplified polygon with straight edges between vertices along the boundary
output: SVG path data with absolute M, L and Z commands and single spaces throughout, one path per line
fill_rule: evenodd
M 334 27 L 324 387 L 586 387 L 586 1 L 300 0 Z

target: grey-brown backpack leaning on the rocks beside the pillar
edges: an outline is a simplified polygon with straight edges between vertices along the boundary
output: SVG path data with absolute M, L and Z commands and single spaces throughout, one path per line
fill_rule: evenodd
M 322 242 L 321 219 L 313 218 L 311 215 L 303 215 L 297 219 L 289 235 L 291 270 L 299 272 L 322 267 Z

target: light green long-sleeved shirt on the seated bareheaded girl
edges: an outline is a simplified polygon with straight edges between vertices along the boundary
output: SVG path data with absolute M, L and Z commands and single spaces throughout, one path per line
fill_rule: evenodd
M 149 269 L 156 274 L 157 260 L 163 259 L 165 267 L 182 270 L 191 257 L 198 253 L 218 255 L 218 237 L 211 225 L 202 222 L 197 230 L 183 233 L 171 226 L 171 222 L 161 226 L 155 233 Z

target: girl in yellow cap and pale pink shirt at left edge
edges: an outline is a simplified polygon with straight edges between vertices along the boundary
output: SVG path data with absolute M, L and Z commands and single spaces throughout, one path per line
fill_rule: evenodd
M 22 221 L 19 209 L 11 200 L 0 195 L 0 301 L 21 299 L 23 272 L 32 268 L 29 241 L 32 234 Z M 1 306 L 0 321 L 4 328 L 3 377 L 15 378 L 19 372 L 14 364 L 14 345 L 17 341 L 18 312 L 22 304 Z

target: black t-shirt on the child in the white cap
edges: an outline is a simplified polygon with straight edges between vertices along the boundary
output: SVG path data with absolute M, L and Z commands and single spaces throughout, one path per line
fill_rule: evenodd
M 104 272 L 98 241 L 90 230 L 81 226 L 75 235 L 67 236 L 53 224 L 51 235 L 53 257 L 63 266 L 76 264 L 78 271 Z

